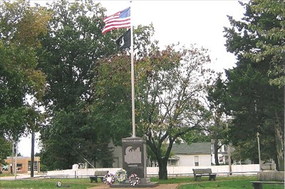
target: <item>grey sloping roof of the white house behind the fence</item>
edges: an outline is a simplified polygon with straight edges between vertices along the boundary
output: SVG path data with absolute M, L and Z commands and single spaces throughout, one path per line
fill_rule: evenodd
M 188 145 L 187 143 L 173 144 L 172 153 L 174 154 L 211 154 L 210 142 L 199 142 Z

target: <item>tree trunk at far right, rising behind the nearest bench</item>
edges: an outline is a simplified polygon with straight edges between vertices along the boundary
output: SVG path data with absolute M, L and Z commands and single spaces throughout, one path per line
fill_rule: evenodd
M 276 155 L 278 161 L 278 171 L 284 171 L 284 132 L 281 129 L 281 124 L 279 121 L 279 117 L 275 112 L 275 122 L 274 122 L 274 130 L 275 130 L 275 140 L 276 140 Z

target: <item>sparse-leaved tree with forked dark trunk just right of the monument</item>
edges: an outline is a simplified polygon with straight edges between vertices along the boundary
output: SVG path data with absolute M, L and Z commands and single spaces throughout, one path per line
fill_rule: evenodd
M 172 144 L 206 124 L 201 99 L 212 73 L 209 62 L 204 48 L 169 45 L 137 64 L 138 131 L 155 153 L 160 179 L 167 179 Z

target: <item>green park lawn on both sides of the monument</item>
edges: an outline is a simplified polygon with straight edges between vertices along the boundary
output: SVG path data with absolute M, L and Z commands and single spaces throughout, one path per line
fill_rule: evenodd
M 1 175 L 4 176 L 4 175 Z M 162 184 L 179 183 L 177 188 L 252 188 L 250 181 L 257 180 L 256 175 L 250 176 L 217 176 L 217 180 L 209 181 L 207 177 L 195 181 L 192 176 L 168 178 L 168 180 L 158 180 L 151 178 L 152 182 Z M 0 188 L 57 188 L 56 183 L 61 182 L 61 188 L 95 188 L 103 183 L 90 183 L 89 178 L 29 178 L 21 180 L 2 180 L 0 178 Z M 131 187 L 130 187 L 131 188 Z M 284 185 L 264 185 L 264 189 L 284 188 Z

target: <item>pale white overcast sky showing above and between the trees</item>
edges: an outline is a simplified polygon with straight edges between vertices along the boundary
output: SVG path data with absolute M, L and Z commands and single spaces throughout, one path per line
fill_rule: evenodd
M 31 1 L 33 2 L 33 1 Z M 38 0 L 44 5 L 46 1 Z M 212 68 L 222 72 L 232 68 L 234 55 L 227 53 L 224 46 L 224 26 L 229 26 L 227 15 L 240 19 L 244 8 L 238 1 L 96 1 L 107 9 L 106 15 L 122 11 L 131 6 L 133 26 L 149 25 L 155 28 L 154 39 L 160 47 L 171 43 L 197 44 L 207 48 L 212 59 Z M 247 2 L 247 1 L 244 1 Z M 38 139 L 38 137 L 36 137 Z M 37 140 L 36 140 L 37 144 Z M 35 152 L 39 152 L 36 146 Z M 22 138 L 19 144 L 22 156 L 31 156 L 31 137 Z

